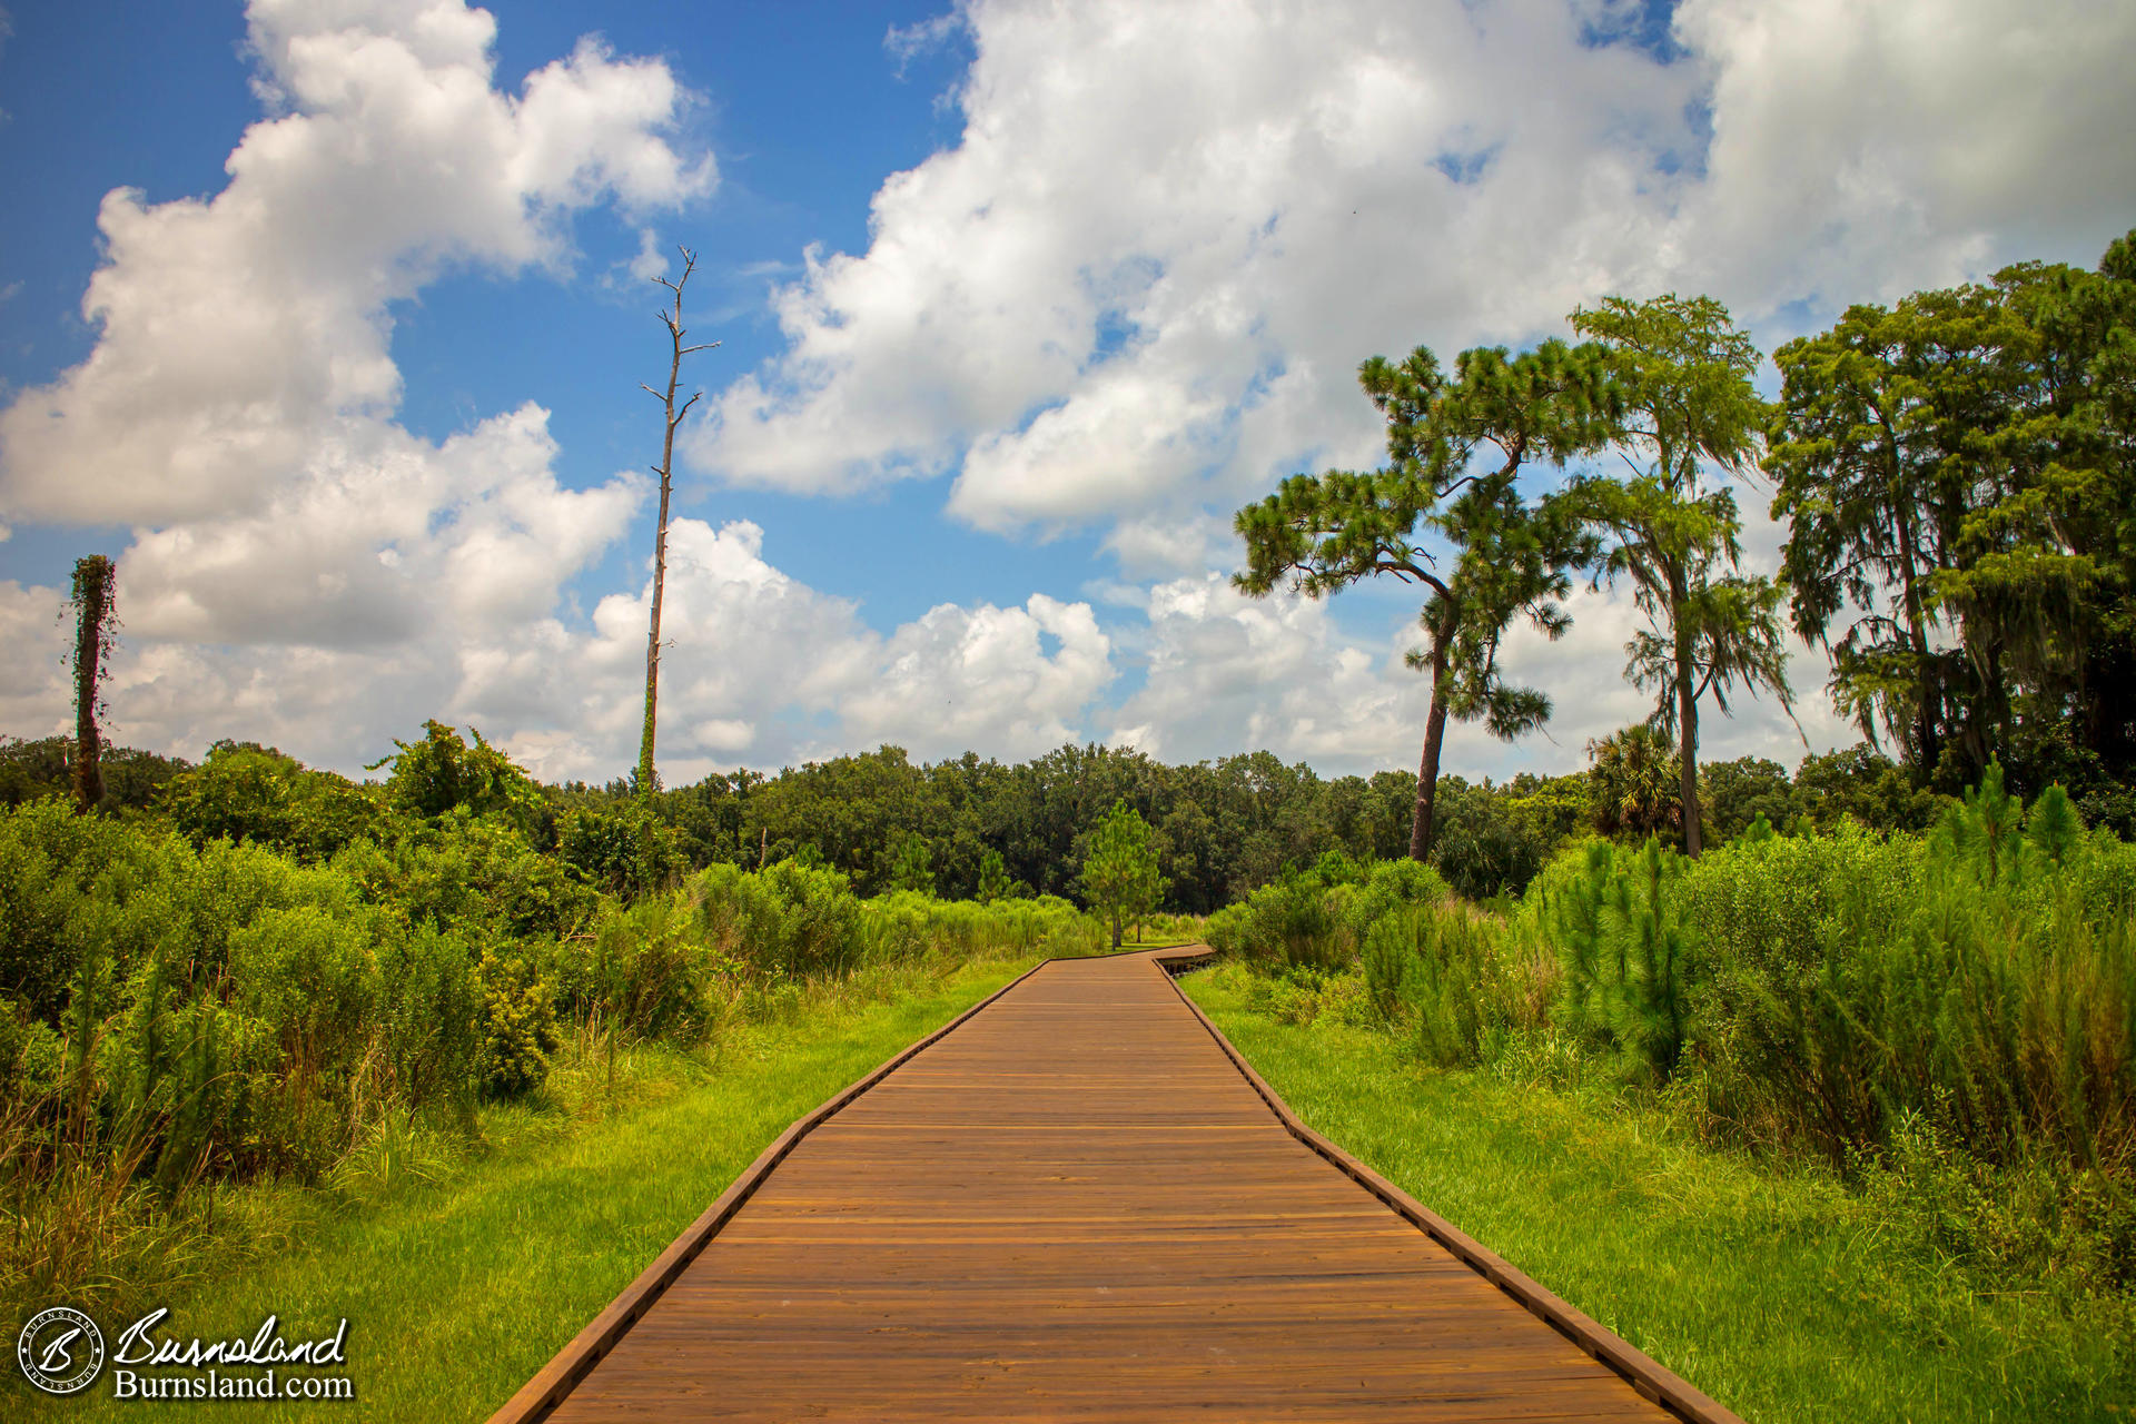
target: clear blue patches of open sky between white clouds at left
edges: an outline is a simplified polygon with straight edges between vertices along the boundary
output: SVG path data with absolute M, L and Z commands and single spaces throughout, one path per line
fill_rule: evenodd
M 513 4 L 500 11 L 498 83 L 570 53 L 590 26 L 619 53 L 671 56 L 703 98 L 692 139 L 720 156 L 720 190 L 662 224 L 696 250 L 688 286 L 694 335 L 722 342 L 690 361 L 686 380 L 720 384 L 778 348 L 765 290 L 801 267 L 810 243 L 865 250 L 867 199 L 886 173 L 955 143 L 955 113 L 940 100 L 968 60 L 955 36 L 899 62 L 891 28 L 933 17 L 925 4 L 846 4 L 805 13 L 763 4 Z M 38 203 L 0 216 L 0 288 L 6 303 L 0 380 L 28 386 L 81 361 L 94 329 L 81 290 L 96 267 L 96 205 L 113 186 L 152 203 L 222 188 L 222 160 L 258 117 L 248 92 L 244 11 L 235 4 L 19 6 L 0 47 L 0 188 Z M 113 45 L 111 41 L 120 43 Z M 132 96 L 126 105 L 111 94 Z M 395 303 L 393 348 L 406 380 L 399 423 L 429 440 L 481 414 L 538 399 L 562 453 L 557 472 L 587 485 L 658 457 L 658 412 L 637 391 L 660 384 L 664 333 L 649 282 L 600 282 L 639 250 L 613 211 L 572 224 L 581 250 L 562 278 L 500 280 L 461 271 Z M 630 397 L 637 395 L 637 401 Z M 1021 602 L 1032 587 L 1074 591 L 1089 576 L 1096 540 L 976 536 L 944 523 L 940 497 L 897 489 L 861 500 L 795 500 L 771 491 L 713 497 L 688 487 L 688 508 L 765 525 L 773 555 L 805 561 L 816 587 L 865 600 L 891 628 L 946 600 Z M 124 527 L 111 529 L 124 540 Z M 64 583 L 85 549 L 79 527 L 19 529 L 0 547 L 6 576 Z M 918 551 L 925 549 L 925 555 Z M 651 521 L 579 581 L 581 598 L 617 587 L 651 557 Z M 1032 585 L 1032 566 L 1045 568 Z

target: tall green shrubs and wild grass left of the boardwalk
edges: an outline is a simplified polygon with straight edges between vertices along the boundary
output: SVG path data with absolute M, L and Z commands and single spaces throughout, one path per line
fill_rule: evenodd
M 613 1108 L 639 1044 L 1098 944 L 1066 901 L 861 901 L 790 860 L 619 903 L 466 816 L 301 865 L 32 803 L 0 816 L 0 1294 L 184 1275 L 224 1183 L 421 1178 L 560 1061 Z

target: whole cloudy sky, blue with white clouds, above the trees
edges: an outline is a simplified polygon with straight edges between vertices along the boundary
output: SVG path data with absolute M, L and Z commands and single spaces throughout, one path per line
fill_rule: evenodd
M 440 715 L 551 777 L 632 760 L 675 243 L 722 346 L 686 365 L 671 781 L 880 741 L 1341 773 L 1414 764 L 1414 600 L 1224 574 L 1232 508 L 1376 459 L 1356 361 L 1660 290 L 1771 348 L 2136 222 L 2136 160 L 2083 143 L 2136 120 L 2136 21 L 2074 0 L 6 15 L 0 732 L 70 719 L 94 549 L 115 734 L 186 756 L 348 771 Z M 1510 649 L 1551 734 L 1461 728 L 1450 771 L 1640 715 L 1623 600 L 1574 615 Z M 1754 702 L 1705 751 L 1852 741 L 1822 679 L 1805 649 L 1801 734 Z

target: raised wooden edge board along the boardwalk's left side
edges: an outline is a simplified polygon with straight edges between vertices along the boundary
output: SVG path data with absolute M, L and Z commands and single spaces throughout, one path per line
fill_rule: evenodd
M 1045 969 L 1049 963 L 1053 961 L 1040 959 L 1036 965 L 1002 984 L 927 1038 L 891 1055 L 871 1074 L 852 1082 L 827 1104 L 782 1132 L 778 1140 L 758 1153 L 756 1161 L 752 1161 L 748 1170 L 743 1170 L 741 1176 L 737 1176 L 726 1191 L 722 1191 L 720 1198 L 705 1208 L 705 1215 L 686 1225 L 681 1236 L 677 1236 L 669 1249 L 639 1275 L 637 1281 L 626 1285 L 624 1294 L 609 1302 L 609 1309 L 596 1315 L 585 1330 L 572 1336 L 572 1341 L 564 1345 L 564 1349 L 560 1349 L 555 1358 L 549 1360 L 549 1364 L 545 1364 L 532 1379 L 528 1379 L 517 1394 L 504 1401 L 504 1407 L 489 1415 L 489 1424 L 536 1424 L 538 1420 L 549 1418 L 549 1413 L 564 1403 L 564 1396 L 568 1396 L 579 1381 L 585 1379 L 611 1349 L 615 1349 L 615 1343 L 630 1332 L 630 1326 L 639 1324 L 645 1311 L 660 1300 L 666 1287 L 675 1283 L 675 1277 L 679 1277 L 684 1268 L 688 1268 L 690 1262 L 705 1251 L 711 1238 L 720 1234 L 720 1228 L 726 1225 L 726 1221 L 741 1211 L 741 1204 L 756 1193 L 763 1181 L 771 1174 L 771 1168 L 780 1166 L 780 1161 L 784 1161 L 786 1155 L 799 1146 L 801 1138 L 835 1117 L 837 1110 L 848 1106 L 854 1097 L 889 1078 L 908 1059 L 953 1033 L 965 1018 L 972 1018 L 1010 988 Z

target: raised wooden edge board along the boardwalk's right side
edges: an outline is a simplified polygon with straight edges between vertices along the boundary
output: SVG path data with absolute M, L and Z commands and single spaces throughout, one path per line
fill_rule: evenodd
M 1164 971 L 1166 978 L 1175 978 L 1179 971 L 1198 969 L 1200 965 L 1209 963 L 1209 959 L 1213 959 L 1213 950 L 1209 950 L 1207 946 L 1194 946 L 1190 950 L 1179 950 L 1179 952 L 1158 950 L 1149 959 L 1160 971 Z M 1292 1138 L 1297 1138 L 1314 1153 L 1324 1157 L 1344 1176 L 1361 1185 L 1365 1191 L 1380 1198 L 1380 1202 L 1384 1202 L 1395 1215 L 1408 1219 L 1410 1225 L 1418 1228 L 1420 1232 L 1425 1232 L 1425 1236 L 1431 1236 L 1435 1243 L 1446 1247 L 1455 1255 L 1455 1260 L 1459 1260 L 1463 1266 L 1480 1275 L 1491 1285 L 1512 1296 L 1532 1315 L 1536 1315 L 1553 1330 L 1557 1330 L 1561 1336 L 1579 1345 L 1593 1360 L 1621 1375 L 1625 1381 L 1632 1383 L 1634 1390 L 1638 1390 L 1643 1398 L 1649 1398 L 1662 1409 L 1675 1413 L 1677 1418 L 1687 1420 L 1687 1424 L 1743 1424 L 1743 1420 L 1737 1413 L 1724 1409 L 1717 1401 L 1696 1390 L 1687 1379 L 1664 1368 L 1643 1349 L 1632 1347 L 1628 1341 L 1606 1330 L 1593 1317 L 1585 1315 L 1583 1311 L 1574 1309 L 1559 1296 L 1551 1294 L 1538 1281 L 1534 1281 L 1532 1277 L 1517 1270 L 1510 1262 L 1506 1262 L 1506 1257 L 1497 1255 L 1480 1240 L 1457 1228 L 1452 1221 L 1438 1215 L 1435 1211 L 1412 1198 L 1408 1191 L 1386 1181 L 1384 1176 L 1367 1168 L 1363 1161 L 1358 1161 L 1356 1157 L 1352 1157 L 1350 1153 L 1346 1153 L 1344 1149 L 1335 1146 L 1318 1132 L 1307 1127 L 1303 1121 L 1299 1121 L 1299 1114 L 1290 1110 L 1290 1104 L 1286 1104 L 1275 1093 L 1275 1089 L 1271 1089 L 1267 1080 L 1262 1080 L 1262 1076 L 1254 1072 L 1254 1065 L 1247 1063 L 1245 1057 L 1230 1046 L 1230 1040 L 1224 1038 L 1224 1031 L 1209 1020 L 1209 1014 L 1205 1014 L 1200 1006 L 1194 1003 L 1194 999 L 1190 999 L 1185 991 L 1179 988 L 1177 982 L 1173 984 L 1173 993 L 1177 993 L 1179 1001 L 1185 1003 L 1188 1010 L 1200 1020 L 1203 1029 L 1209 1031 L 1209 1038 L 1213 1038 L 1218 1048 L 1224 1050 L 1224 1057 L 1230 1059 L 1232 1067 L 1237 1067 L 1239 1074 L 1247 1080 L 1247 1085 L 1252 1085 L 1252 1089 L 1260 1095 L 1260 1099 L 1269 1106 L 1269 1110 L 1277 1117 L 1284 1129 L 1290 1132 Z

